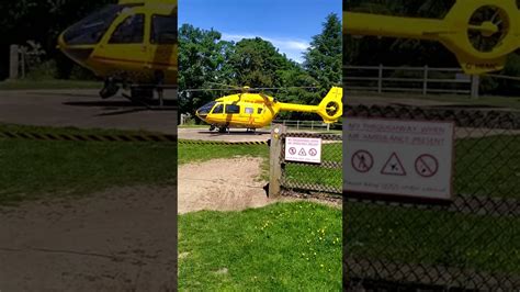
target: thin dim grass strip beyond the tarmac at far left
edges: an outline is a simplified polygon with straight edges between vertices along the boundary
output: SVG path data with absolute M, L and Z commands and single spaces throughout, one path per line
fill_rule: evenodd
M 102 82 L 78 80 L 9 80 L 0 82 L 0 90 L 33 90 L 33 89 L 100 89 Z

